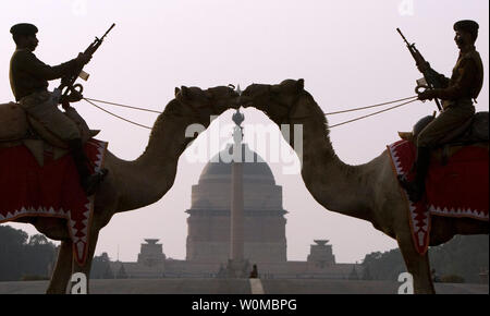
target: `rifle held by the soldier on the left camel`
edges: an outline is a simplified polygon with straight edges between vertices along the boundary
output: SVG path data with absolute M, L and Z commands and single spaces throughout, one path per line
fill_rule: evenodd
M 87 47 L 87 49 L 85 49 L 84 53 L 91 57 L 96 52 L 96 50 L 100 47 L 100 45 L 102 44 L 103 38 L 108 35 L 108 33 L 114 26 L 115 26 L 115 23 L 112 23 L 111 27 L 109 27 L 109 29 L 102 35 L 102 37 L 100 37 L 100 38 L 96 37 L 94 42 L 91 42 Z M 84 72 L 83 69 L 84 69 L 84 65 L 77 68 L 73 72 L 73 74 L 63 76 L 61 78 L 60 86 L 54 89 L 54 95 L 58 98 L 60 98 L 61 96 L 62 96 L 62 98 L 65 98 L 69 96 L 69 93 L 73 93 L 73 92 L 82 94 L 82 92 L 84 90 L 84 87 L 81 84 L 75 84 L 75 81 L 78 76 L 81 78 L 83 78 L 84 81 L 88 80 L 89 74 Z

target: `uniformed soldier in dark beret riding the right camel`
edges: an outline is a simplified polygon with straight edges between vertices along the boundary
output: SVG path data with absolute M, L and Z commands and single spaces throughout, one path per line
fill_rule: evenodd
M 460 48 L 460 56 L 451 78 L 440 74 L 445 83 L 444 88 L 428 89 L 418 95 L 420 100 L 439 98 L 443 111 L 431 121 L 417 137 L 417 159 L 415 162 L 415 180 L 409 182 L 401 178 L 402 186 L 413 202 L 421 199 L 425 193 L 425 179 L 429 169 L 430 149 L 440 145 L 440 141 L 452 130 L 461 126 L 475 114 L 471 99 L 476 99 L 483 84 L 483 65 L 480 54 L 475 49 L 478 37 L 478 23 L 470 20 L 454 24 L 454 40 Z M 428 63 L 419 70 L 429 69 Z

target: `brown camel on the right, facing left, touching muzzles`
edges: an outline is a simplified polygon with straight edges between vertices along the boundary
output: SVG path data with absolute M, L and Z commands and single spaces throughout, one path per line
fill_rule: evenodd
M 313 197 L 328 210 L 370 221 L 395 239 L 414 277 L 415 293 L 434 293 L 428 253 L 420 255 L 414 247 L 405 200 L 387 150 L 364 165 L 342 162 L 330 142 L 323 110 L 304 89 L 304 80 L 253 84 L 243 92 L 240 104 L 265 112 L 279 126 L 303 124 L 302 178 Z M 294 141 L 291 146 L 295 148 Z M 488 232 L 488 221 L 433 216 L 430 245 L 442 244 L 455 234 Z

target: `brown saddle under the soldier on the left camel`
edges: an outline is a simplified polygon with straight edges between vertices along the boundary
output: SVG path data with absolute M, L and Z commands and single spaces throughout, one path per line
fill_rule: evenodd
M 99 130 L 90 130 L 85 120 L 74 108 L 68 108 L 64 114 L 76 123 L 82 141 L 97 135 Z M 46 153 L 58 159 L 68 153 L 68 144 L 51 133 L 39 121 L 27 116 L 19 104 L 0 104 L 0 147 L 25 145 L 34 155 L 39 166 L 44 165 Z

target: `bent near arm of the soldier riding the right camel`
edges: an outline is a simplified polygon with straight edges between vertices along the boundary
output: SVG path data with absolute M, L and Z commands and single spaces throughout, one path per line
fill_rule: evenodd
M 467 92 L 473 83 L 473 77 L 477 72 L 475 61 L 469 58 L 462 60 L 458 71 L 461 72 L 461 75 L 455 83 L 452 83 L 451 86 L 446 88 L 434 89 L 434 96 L 437 98 L 450 100 L 467 96 Z

